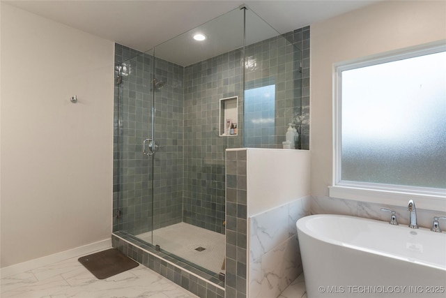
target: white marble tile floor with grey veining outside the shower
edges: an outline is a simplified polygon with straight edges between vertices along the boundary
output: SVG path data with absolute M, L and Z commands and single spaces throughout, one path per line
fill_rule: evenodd
M 77 259 L 71 258 L 1 278 L 0 297 L 197 298 L 191 292 L 143 265 L 98 280 Z M 277 298 L 307 298 L 304 275 L 300 274 Z

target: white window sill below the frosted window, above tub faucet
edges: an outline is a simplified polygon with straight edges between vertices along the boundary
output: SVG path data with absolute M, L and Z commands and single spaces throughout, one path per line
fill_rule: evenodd
M 417 207 L 420 209 L 446 212 L 446 194 L 431 195 L 422 193 L 404 193 L 353 186 L 328 186 L 328 193 L 331 198 L 372 202 L 376 204 L 390 204 L 395 206 L 406 206 L 408 200 L 414 200 Z

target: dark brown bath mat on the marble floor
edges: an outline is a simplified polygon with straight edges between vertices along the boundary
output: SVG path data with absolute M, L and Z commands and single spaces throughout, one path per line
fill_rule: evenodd
M 109 278 L 139 265 L 116 248 L 86 255 L 78 260 L 98 279 Z

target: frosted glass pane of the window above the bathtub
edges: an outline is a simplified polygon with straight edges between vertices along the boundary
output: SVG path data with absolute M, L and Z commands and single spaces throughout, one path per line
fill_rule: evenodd
M 339 180 L 446 188 L 446 52 L 393 60 L 338 70 Z

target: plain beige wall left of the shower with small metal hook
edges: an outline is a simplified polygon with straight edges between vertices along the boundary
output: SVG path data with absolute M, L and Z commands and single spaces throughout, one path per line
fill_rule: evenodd
M 1 267 L 110 237 L 113 61 L 112 41 L 1 2 Z

